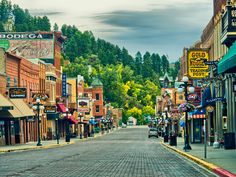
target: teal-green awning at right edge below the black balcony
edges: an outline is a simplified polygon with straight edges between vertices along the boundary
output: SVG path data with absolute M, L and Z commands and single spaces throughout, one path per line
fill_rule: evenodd
M 218 63 L 218 74 L 231 72 L 236 67 L 236 42 Z

